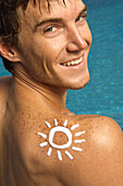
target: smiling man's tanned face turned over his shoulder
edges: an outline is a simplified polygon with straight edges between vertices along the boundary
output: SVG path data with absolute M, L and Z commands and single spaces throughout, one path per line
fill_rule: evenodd
M 89 81 L 87 56 L 91 34 L 82 0 L 29 1 L 25 15 L 19 9 L 19 55 L 26 72 L 38 81 L 64 89 L 81 89 Z

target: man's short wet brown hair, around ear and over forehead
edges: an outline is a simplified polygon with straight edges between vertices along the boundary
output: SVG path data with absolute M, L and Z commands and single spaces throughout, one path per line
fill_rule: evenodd
M 36 5 L 36 0 L 34 5 Z M 49 1 L 48 7 L 49 7 Z M 20 20 L 16 14 L 16 9 L 22 7 L 23 11 L 26 10 L 29 0 L 0 0 L 0 42 L 7 43 L 11 46 L 17 44 L 17 34 L 20 32 Z M 40 0 L 38 0 L 40 3 Z M 63 3 L 64 0 L 63 0 Z M 12 71 L 13 62 L 0 56 L 3 60 L 4 67 L 10 72 Z

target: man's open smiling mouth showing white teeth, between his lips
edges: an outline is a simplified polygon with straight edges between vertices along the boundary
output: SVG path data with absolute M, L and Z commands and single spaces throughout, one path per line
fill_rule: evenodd
M 79 65 L 82 61 L 84 60 L 84 55 L 76 59 L 76 60 L 71 60 L 71 61 L 67 61 L 67 62 L 62 62 L 60 63 L 61 66 L 65 66 L 65 67 L 71 67 L 71 66 L 77 66 Z

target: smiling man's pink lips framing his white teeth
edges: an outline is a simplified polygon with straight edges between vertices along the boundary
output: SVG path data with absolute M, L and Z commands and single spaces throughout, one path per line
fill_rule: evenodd
M 78 65 L 75 65 L 75 66 L 62 66 L 62 65 L 60 65 L 62 68 L 64 68 L 64 69 L 78 69 L 78 68 L 83 68 L 84 66 L 85 66 L 85 63 L 86 63 L 86 60 L 85 60 L 85 53 L 81 56 L 81 57 L 83 57 L 83 60 L 78 63 Z M 79 57 L 79 58 L 81 58 Z M 77 59 L 79 59 L 79 58 L 76 58 L 76 59 L 72 59 L 72 60 L 77 60 Z M 71 61 L 72 61 L 71 60 Z M 70 60 L 69 60 L 70 61 Z M 64 62 L 65 63 L 65 62 Z

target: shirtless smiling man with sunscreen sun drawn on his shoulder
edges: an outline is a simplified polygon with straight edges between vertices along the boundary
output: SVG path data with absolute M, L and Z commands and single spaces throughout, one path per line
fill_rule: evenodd
M 91 34 L 81 0 L 0 1 L 1 186 L 122 186 L 123 135 L 108 117 L 71 113 L 89 81 Z

